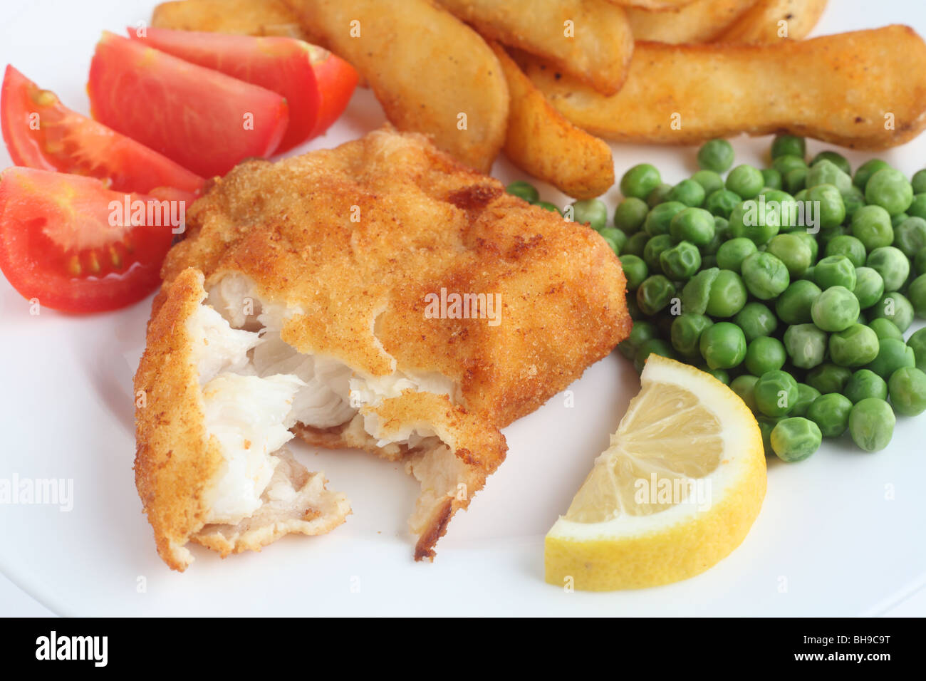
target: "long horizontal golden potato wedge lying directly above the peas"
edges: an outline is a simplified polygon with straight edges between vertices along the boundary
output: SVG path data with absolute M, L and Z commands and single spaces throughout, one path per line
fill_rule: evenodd
M 610 97 L 537 61 L 526 72 L 567 119 L 620 142 L 792 132 L 884 149 L 926 127 L 926 44 L 907 26 L 774 45 L 638 43 Z

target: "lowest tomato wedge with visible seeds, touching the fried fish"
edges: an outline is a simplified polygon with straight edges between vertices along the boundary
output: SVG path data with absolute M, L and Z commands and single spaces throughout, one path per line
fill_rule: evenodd
M 170 218 L 184 214 L 185 206 L 113 192 L 94 178 L 7 168 L 0 172 L 0 270 L 47 308 L 119 309 L 160 284 Z

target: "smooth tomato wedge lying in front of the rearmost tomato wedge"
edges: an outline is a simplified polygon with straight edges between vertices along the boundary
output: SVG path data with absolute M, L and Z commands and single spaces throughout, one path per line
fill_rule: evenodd
M 96 120 L 206 177 L 269 156 L 289 118 L 281 95 L 110 32 L 87 92 Z

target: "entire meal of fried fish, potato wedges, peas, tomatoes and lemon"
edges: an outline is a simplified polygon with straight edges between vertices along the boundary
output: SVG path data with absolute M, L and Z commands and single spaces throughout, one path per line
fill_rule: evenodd
M 926 169 L 805 141 L 920 134 L 926 44 L 805 40 L 825 6 L 166 2 L 103 33 L 92 118 L 6 68 L 0 270 L 65 312 L 160 286 L 135 479 L 175 570 L 191 543 L 225 557 L 346 521 L 297 437 L 403 462 L 431 561 L 501 429 L 617 347 L 640 393 L 547 534 L 546 581 L 685 579 L 744 540 L 767 460 L 844 434 L 876 452 L 926 411 Z M 389 122 L 300 155 L 357 85 Z M 775 134 L 762 167 L 734 167 L 742 132 Z M 629 164 L 611 212 L 605 140 L 698 143 L 698 168 Z M 576 200 L 490 177 L 500 152 Z

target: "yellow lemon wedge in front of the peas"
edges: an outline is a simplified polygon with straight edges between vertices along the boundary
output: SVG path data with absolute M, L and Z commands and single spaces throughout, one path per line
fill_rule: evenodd
M 669 584 L 738 547 L 765 498 L 756 419 L 708 373 L 656 354 L 611 444 L 546 535 L 546 581 Z

